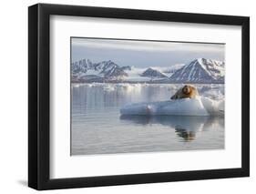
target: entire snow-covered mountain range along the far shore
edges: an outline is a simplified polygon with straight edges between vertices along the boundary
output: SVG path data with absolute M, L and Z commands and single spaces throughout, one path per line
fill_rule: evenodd
M 82 59 L 71 64 L 72 82 L 224 83 L 225 63 L 197 58 L 169 67 L 118 66 L 108 60 L 93 63 Z

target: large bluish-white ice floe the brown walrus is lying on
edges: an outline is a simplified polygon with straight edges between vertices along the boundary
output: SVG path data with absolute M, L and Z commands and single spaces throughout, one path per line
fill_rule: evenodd
M 121 115 L 210 116 L 221 115 L 223 112 L 223 102 L 214 101 L 208 97 L 136 103 L 120 109 Z

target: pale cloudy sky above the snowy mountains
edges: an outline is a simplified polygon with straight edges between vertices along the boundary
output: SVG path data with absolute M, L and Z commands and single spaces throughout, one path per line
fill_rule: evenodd
M 71 38 L 72 62 L 111 60 L 118 66 L 172 66 L 195 58 L 225 60 L 224 44 Z

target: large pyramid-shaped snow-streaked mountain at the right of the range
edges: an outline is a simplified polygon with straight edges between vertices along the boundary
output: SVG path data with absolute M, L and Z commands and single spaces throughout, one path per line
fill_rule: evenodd
M 175 83 L 224 83 L 224 62 L 198 58 L 179 68 L 169 80 Z

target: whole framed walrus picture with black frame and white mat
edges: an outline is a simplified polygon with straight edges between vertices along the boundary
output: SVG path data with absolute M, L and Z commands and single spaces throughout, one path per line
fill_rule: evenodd
M 250 19 L 28 8 L 28 185 L 250 174 Z

